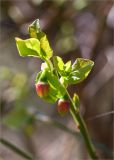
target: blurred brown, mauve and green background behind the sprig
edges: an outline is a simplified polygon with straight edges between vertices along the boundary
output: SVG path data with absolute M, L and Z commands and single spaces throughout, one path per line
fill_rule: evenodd
M 60 117 L 57 104 L 37 96 L 35 76 L 42 61 L 18 54 L 15 37 L 28 38 L 28 25 L 38 18 L 54 55 L 64 62 L 77 57 L 95 62 L 89 77 L 68 89 L 80 97 L 80 112 L 101 159 L 113 159 L 113 0 L 1 0 L 0 10 L 0 136 L 36 159 L 89 159 L 82 139 L 48 122 L 50 117 L 79 132 L 70 114 Z M 38 119 L 31 119 L 36 111 Z M 0 158 L 23 160 L 3 145 Z

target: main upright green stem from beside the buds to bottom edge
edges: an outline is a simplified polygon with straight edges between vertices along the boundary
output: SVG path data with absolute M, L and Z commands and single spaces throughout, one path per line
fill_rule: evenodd
M 67 93 L 67 96 L 68 96 L 68 98 L 70 100 L 70 103 L 71 103 L 70 113 L 72 114 L 73 119 L 74 119 L 76 124 L 77 124 L 77 121 L 78 121 L 80 132 L 83 135 L 88 153 L 89 153 L 89 155 L 91 156 L 92 159 L 98 159 L 98 157 L 96 155 L 96 152 L 95 152 L 95 148 L 94 148 L 94 146 L 92 144 L 92 141 L 90 139 L 90 136 L 88 134 L 88 130 L 86 128 L 85 122 L 84 122 L 83 118 L 81 117 L 81 115 L 79 113 L 79 110 L 75 109 L 76 106 L 73 103 L 72 98 L 70 97 L 67 89 L 66 89 L 66 93 Z

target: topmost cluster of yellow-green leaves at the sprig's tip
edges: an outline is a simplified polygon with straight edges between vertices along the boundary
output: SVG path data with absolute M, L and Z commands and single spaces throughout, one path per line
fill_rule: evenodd
M 52 57 L 53 50 L 46 34 L 40 30 L 39 19 L 29 26 L 29 34 L 30 39 L 15 38 L 20 56 L 33 56 L 49 60 Z

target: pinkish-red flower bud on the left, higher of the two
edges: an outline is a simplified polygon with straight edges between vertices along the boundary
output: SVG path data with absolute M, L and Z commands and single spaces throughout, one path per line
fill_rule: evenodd
M 37 84 L 35 84 L 35 86 L 36 86 L 36 92 L 39 97 L 43 98 L 48 96 L 50 88 L 48 83 L 38 82 Z

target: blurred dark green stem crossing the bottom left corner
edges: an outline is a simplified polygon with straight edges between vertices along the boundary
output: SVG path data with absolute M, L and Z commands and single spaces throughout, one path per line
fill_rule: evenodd
M 33 160 L 33 158 L 28 153 L 25 153 L 21 149 L 17 148 L 11 142 L 9 142 L 9 141 L 7 141 L 7 140 L 5 140 L 3 138 L 0 138 L 0 143 L 2 143 L 3 145 L 5 145 L 6 147 L 10 148 L 11 150 L 13 150 L 15 153 L 17 153 L 21 157 L 23 157 L 25 159 L 28 159 L 28 160 Z

